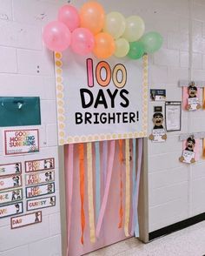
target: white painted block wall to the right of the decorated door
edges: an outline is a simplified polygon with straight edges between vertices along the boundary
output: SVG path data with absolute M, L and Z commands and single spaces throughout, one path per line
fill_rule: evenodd
M 149 87 L 166 89 L 168 100 L 182 100 L 180 79 L 205 81 L 205 2 L 190 1 L 190 6 L 188 0 L 152 2 L 157 3 L 149 21 L 155 21 L 165 44 L 150 57 Z M 154 105 L 161 104 L 149 103 L 149 132 Z M 182 131 L 169 132 L 163 144 L 149 141 L 149 232 L 205 212 L 204 160 L 201 157 L 190 166 L 178 161 L 182 154 L 178 135 L 204 131 L 204 118 L 205 111 L 182 111 Z

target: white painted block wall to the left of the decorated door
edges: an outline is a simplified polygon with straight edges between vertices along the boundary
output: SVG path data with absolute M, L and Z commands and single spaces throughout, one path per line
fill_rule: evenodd
M 42 114 L 42 125 L 37 126 L 40 153 L 3 157 L 1 129 L 0 164 L 56 158 L 56 206 L 42 210 L 42 224 L 17 230 L 10 229 L 10 218 L 0 219 L 0 256 L 62 255 L 54 65 L 52 53 L 43 48 L 41 32 L 43 24 L 56 19 L 63 3 L 67 1 L 0 0 L 0 96 L 39 96 Z

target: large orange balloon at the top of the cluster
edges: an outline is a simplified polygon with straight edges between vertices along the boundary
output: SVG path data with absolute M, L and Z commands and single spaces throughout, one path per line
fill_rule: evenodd
M 84 3 L 80 12 L 81 27 L 89 29 L 94 35 L 99 33 L 105 20 L 105 12 L 100 3 Z

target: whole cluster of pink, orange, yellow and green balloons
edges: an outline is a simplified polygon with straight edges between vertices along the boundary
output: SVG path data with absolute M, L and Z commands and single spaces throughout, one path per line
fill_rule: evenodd
M 84 3 L 79 12 L 72 5 L 64 5 L 57 21 L 44 27 L 43 42 L 51 51 L 64 51 L 70 46 L 79 55 L 93 52 L 98 58 L 115 55 L 138 59 L 162 47 L 159 33 L 144 35 L 144 30 L 141 17 L 126 19 L 116 11 L 105 15 L 102 5 L 91 1 Z

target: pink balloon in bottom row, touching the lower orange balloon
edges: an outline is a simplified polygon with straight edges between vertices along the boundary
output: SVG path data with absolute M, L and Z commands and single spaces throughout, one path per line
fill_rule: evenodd
M 71 48 L 79 55 L 87 55 L 95 46 L 93 34 L 85 28 L 78 28 L 73 31 L 71 39 Z

